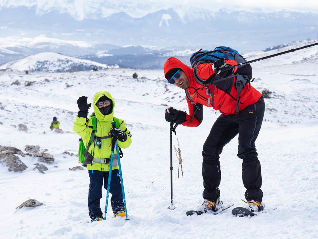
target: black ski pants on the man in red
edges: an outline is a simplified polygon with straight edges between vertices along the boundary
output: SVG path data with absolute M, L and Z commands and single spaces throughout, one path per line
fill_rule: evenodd
M 264 98 L 255 104 L 247 106 L 238 116 L 221 114 L 211 128 L 211 132 L 203 145 L 203 198 L 217 201 L 220 196 L 221 182 L 220 154 L 225 144 L 239 134 L 239 152 L 237 156 L 243 159 L 242 178 L 246 188 L 246 200 L 263 198 L 262 174 L 255 140 L 259 134 L 265 112 Z

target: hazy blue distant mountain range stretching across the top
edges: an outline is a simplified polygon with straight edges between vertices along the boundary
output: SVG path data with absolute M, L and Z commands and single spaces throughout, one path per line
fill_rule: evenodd
M 29 4 L 9 2 L 0 5 L 0 37 L 34 38 L 45 34 L 63 40 L 117 46 L 231 45 L 247 52 L 293 40 L 315 39 L 318 32 L 315 12 L 264 11 L 237 6 L 225 9 L 220 4 L 215 4 L 211 11 L 211 7 L 171 4 L 170 8 L 163 8 L 158 4 L 121 1 L 91 1 L 74 6 L 71 6 L 73 1 L 54 1 L 54 6 L 46 1 L 42 5 L 34 1 Z

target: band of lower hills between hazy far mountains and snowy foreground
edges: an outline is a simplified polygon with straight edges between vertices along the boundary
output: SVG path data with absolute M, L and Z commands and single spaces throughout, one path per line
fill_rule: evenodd
M 244 54 L 250 60 L 274 54 L 277 50 L 287 51 L 292 48 L 313 44 L 315 41 L 288 42 L 279 46 L 266 48 L 262 51 L 253 51 Z M 47 44 L 49 45 L 49 44 Z M 67 57 L 56 53 L 41 53 L 0 64 L 0 70 L 6 71 L 41 71 L 41 72 L 65 72 L 74 67 L 78 70 L 91 70 L 93 67 L 107 69 L 110 65 L 120 68 L 134 69 L 162 69 L 164 62 L 171 56 L 177 57 L 184 64 L 189 65 L 190 55 L 196 50 L 173 50 L 171 48 L 147 47 L 147 46 L 126 46 L 106 51 L 99 51 L 97 54 L 80 55 L 77 58 Z M 10 52 L 9 52 L 10 53 Z M 241 52 L 240 52 L 241 53 Z M 297 52 L 298 53 L 298 52 Z M 305 58 L 303 54 L 295 54 L 295 59 L 287 54 L 288 62 L 316 59 L 318 47 L 313 47 Z M 243 54 L 243 53 L 241 53 Z

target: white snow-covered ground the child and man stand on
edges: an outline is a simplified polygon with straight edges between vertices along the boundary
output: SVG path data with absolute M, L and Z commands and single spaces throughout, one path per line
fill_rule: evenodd
M 25 150 L 25 145 L 48 149 L 55 162 L 45 174 L 33 170 L 37 159 L 20 159 L 22 173 L 0 165 L 1 238 L 317 238 L 318 229 L 318 79 L 317 59 L 294 62 L 293 54 L 253 64 L 253 86 L 273 91 L 256 141 L 262 165 L 264 203 L 277 209 L 252 218 L 233 217 L 231 209 L 218 215 L 186 216 L 202 203 L 202 146 L 219 113 L 204 108 L 197 128 L 176 128 L 183 157 L 184 178 L 178 178 L 174 155 L 174 204 L 170 211 L 169 123 L 164 110 L 187 110 L 184 92 L 168 85 L 160 70 L 108 69 L 73 73 L 0 72 L 0 145 Z M 288 60 L 287 60 L 288 59 Z M 133 79 L 137 72 L 139 79 Z M 21 84 L 11 84 L 18 80 Z M 24 82 L 33 82 L 25 86 Z M 69 87 L 67 87 L 69 85 Z M 72 132 L 76 101 L 109 91 L 116 101 L 115 116 L 124 119 L 133 143 L 121 160 L 130 220 L 89 220 L 86 170 L 75 156 L 79 136 Z M 63 134 L 50 132 L 53 116 Z M 18 131 L 25 124 L 28 132 Z M 45 132 L 45 134 L 44 134 Z M 176 144 L 176 136 L 173 138 Z M 241 206 L 245 188 L 237 154 L 238 140 L 221 155 L 221 200 Z M 24 151 L 25 152 L 25 151 Z M 55 167 L 57 166 L 57 167 Z M 45 206 L 15 209 L 27 199 Z M 104 211 L 106 190 L 101 209 Z

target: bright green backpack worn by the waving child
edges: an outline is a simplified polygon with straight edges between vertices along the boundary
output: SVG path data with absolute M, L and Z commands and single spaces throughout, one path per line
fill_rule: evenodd
M 79 163 L 83 166 L 83 167 L 87 167 L 86 166 L 86 164 L 84 163 L 84 160 L 85 160 L 85 155 L 86 155 L 86 153 L 87 153 L 87 151 L 88 151 L 88 149 L 89 149 L 89 147 L 91 146 L 91 144 L 94 142 L 94 140 L 95 140 L 95 134 L 96 134 L 96 126 L 97 126 L 97 119 L 96 119 L 96 117 L 95 117 L 95 113 L 93 113 L 93 114 L 91 114 L 90 116 L 89 116 L 90 118 L 91 118 L 91 120 L 92 120 L 92 124 L 93 124 L 93 131 L 92 131 L 92 134 L 91 134 L 91 139 L 90 139 L 90 141 L 87 143 L 87 149 L 86 149 L 86 147 L 85 147 L 85 145 L 84 145 L 84 142 L 83 142 L 83 139 L 82 138 L 80 138 L 79 139 Z M 113 118 L 113 120 L 114 120 L 114 122 L 116 122 L 116 125 L 115 125 L 115 127 L 116 128 L 119 128 L 119 120 L 118 120 L 118 118 L 116 118 L 116 117 L 114 117 Z M 121 151 L 121 148 L 119 147 L 119 154 L 120 154 L 120 157 L 122 157 L 122 151 Z

